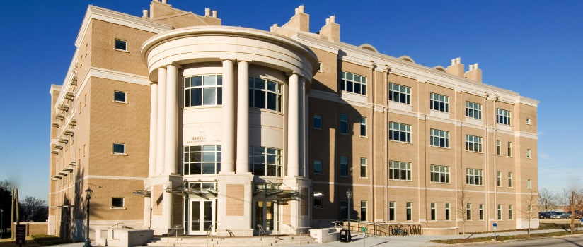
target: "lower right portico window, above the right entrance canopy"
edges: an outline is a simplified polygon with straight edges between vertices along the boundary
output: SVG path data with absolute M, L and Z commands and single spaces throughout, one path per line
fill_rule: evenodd
M 255 176 L 282 176 L 282 150 L 249 147 L 249 171 Z

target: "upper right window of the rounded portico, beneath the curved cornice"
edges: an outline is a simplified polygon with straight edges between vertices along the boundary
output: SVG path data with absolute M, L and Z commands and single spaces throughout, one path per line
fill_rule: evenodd
M 282 85 L 261 78 L 249 78 L 249 106 L 282 112 Z

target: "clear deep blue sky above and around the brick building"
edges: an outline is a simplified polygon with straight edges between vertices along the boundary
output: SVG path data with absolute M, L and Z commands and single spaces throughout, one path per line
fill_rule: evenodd
M 479 63 L 484 83 L 540 100 L 539 188 L 583 188 L 583 1 L 192 1 L 175 8 L 219 11 L 223 25 L 268 30 L 300 4 L 311 32 L 336 16 L 340 40 L 372 44 L 417 64 Z M 52 83 L 62 84 L 88 4 L 142 16 L 149 0 L 3 1 L 0 8 L 0 180 L 47 200 Z M 567 109 L 571 109 L 567 111 Z M 578 112 L 578 113 L 577 113 Z

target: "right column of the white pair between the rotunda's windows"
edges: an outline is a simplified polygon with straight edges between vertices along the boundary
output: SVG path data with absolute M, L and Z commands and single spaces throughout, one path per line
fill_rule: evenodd
M 237 73 L 237 173 L 249 171 L 249 63 L 240 61 Z

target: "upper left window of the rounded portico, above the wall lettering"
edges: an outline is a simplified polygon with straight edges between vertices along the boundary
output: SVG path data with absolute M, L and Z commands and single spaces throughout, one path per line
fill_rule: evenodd
M 223 76 L 204 75 L 184 78 L 184 106 L 223 104 Z

